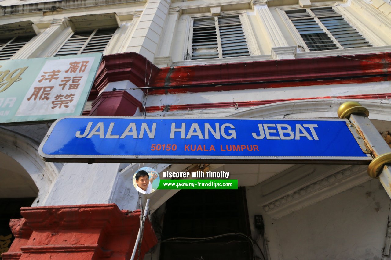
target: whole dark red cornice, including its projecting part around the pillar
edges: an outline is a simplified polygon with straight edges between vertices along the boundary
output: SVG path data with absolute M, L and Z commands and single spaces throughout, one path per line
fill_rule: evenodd
M 389 52 L 159 69 L 142 55 L 127 52 L 103 57 L 93 89 L 122 80 L 152 86 L 149 94 L 380 82 L 391 76 L 387 61 Z

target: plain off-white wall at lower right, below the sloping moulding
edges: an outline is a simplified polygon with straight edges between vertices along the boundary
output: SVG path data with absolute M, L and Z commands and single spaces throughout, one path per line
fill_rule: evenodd
M 247 198 L 253 212 L 251 188 Z M 265 217 L 271 259 L 380 260 L 389 205 L 382 185 L 371 180 L 280 219 Z

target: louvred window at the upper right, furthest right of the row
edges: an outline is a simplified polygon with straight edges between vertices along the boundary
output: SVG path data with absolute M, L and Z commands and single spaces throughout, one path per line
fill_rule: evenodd
M 285 11 L 310 51 L 372 46 L 332 7 Z

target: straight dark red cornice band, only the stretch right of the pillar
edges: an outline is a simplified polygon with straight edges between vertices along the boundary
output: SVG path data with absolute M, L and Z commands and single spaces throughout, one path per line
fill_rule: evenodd
M 219 90 L 224 91 L 231 87 L 264 88 L 267 87 L 266 84 L 273 85 L 270 87 L 280 85 L 289 87 L 297 82 L 302 85 L 314 85 L 315 82 L 325 80 L 330 80 L 334 84 L 341 84 L 341 80 L 348 80 L 350 83 L 354 83 L 355 80 L 375 82 L 387 80 L 387 75 L 390 75 L 391 66 L 386 63 L 387 61 L 391 63 L 391 53 L 359 54 L 346 56 L 346 59 L 344 56 L 331 56 L 176 66 L 161 68 L 150 85 L 173 87 L 173 89 L 164 89 L 162 93 L 166 91 L 178 93 L 178 91 L 189 91 L 187 87 L 192 87 L 191 91 L 196 92 L 210 91 L 208 87 L 215 85 L 221 85 Z M 195 86 L 199 86 L 199 89 L 195 89 Z M 154 94 L 161 94 L 160 92 L 156 90 Z

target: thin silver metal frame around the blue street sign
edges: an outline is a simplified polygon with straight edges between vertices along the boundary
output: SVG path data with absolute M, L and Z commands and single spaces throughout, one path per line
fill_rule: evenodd
M 353 138 L 356 140 L 359 149 L 362 151 L 361 157 L 355 156 L 213 156 L 213 155 L 80 155 L 80 154 L 48 154 L 45 153 L 45 145 L 47 142 L 50 142 L 50 135 L 53 134 L 54 129 L 57 124 L 62 120 L 72 118 L 83 118 L 83 119 L 110 119 L 112 121 L 118 119 L 129 119 L 130 121 L 135 120 L 179 120 L 179 121 L 194 121 L 194 120 L 221 120 L 231 121 L 231 120 L 257 120 L 257 121 L 344 121 L 348 126 L 350 123 L 346 119 L 258 119 L 258 118 L 140 118 L 140 117 L 110 117 L 110 116 L 74 116 L 74 117 L 65 117 L 58 119 L 52 124 L 47 135 L 43 139 L 41 145 L 39 146 L 39 155 L 47 162 L 170 162 L 170 163 L 231 163 L 231 164 L 297 164 L 300 161 L 300 164 L 369 164 L 372 157 L 369 152 L 365 151 L 365 146 L 362 143 L 357 142 L 360 139 L 355 138 L 354 131 L 355 128 L 349 129 Z M 61 137 L 57 136 L 57 139 Z M 98 137 L 97 137 L 98 138 Z M 361 140 L 362 141 L 362 140 Z

